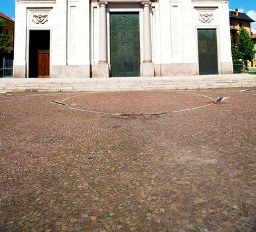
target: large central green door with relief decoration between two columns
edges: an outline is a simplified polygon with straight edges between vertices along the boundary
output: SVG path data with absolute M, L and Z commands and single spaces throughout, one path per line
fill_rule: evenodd
M 110 13 L 111 76 L 140 75 L 139 13 Z

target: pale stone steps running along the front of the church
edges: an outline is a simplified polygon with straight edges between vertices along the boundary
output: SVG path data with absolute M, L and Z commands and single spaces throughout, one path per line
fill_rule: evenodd
M 256 75 L 231 74 L 155 78 L 1 78 L 1 91 L 131 91 L 255 87 Z

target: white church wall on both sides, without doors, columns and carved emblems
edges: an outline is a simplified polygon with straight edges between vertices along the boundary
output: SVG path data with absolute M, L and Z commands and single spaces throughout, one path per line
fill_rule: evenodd
M 137 11 L 143 64 L 143 5 L 131 0 L 107 5 L 107 55 L 109 63 L 109 13 Z M 203 22 L 200 14 L 212 13 Z M 34 15 L 48 15 L 35 23 Z M 99 5 L 96 0 L 16 1 L 15 78 L 28 77 L 29 30 L 50 30 L 50 76 L 90 78 L 99 71 Z M 199 73 L 197 29 L 216 29 L 219 74 L 233 72 L 229 10 L 225 0 L 160 0 L 151 5 L 152 62 L 155 76 L 186 76 Z M 143 65 L 141 74 L 143 75 Z

